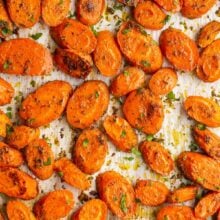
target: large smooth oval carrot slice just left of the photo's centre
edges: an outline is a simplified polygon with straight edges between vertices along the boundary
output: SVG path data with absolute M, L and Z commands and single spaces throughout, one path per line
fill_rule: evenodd
M 67 105 L 67 121 L 76 128 L 87 128 L 107 110 L 107 85 L 98 80 L 84 82 L 73 93 Z

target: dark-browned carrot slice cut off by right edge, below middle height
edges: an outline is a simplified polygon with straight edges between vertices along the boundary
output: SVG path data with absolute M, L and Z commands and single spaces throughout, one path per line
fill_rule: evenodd
M 210 157 L 220 161 L 220 137 L 209 129 L 194 127 L 193 136 L 199 147 Z

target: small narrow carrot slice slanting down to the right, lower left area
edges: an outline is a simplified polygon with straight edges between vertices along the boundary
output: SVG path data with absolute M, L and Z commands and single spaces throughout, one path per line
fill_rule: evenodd
M 63 157 L 55 162 L 54 169 L 58 172 L 62 180 L 69 185 L 81 190 L 88 189 L 90 182 L 86 175 L 79 170 L 71 160 Z

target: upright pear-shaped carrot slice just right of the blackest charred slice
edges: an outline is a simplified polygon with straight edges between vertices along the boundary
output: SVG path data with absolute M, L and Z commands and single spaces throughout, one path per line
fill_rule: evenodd
M 99 32 L 94 62 L 104 76 L 114 76 L 118 73 L 122 64 L 122 56 L 110 31 Z

